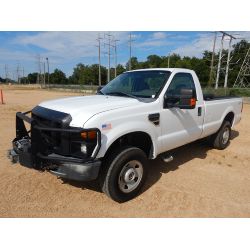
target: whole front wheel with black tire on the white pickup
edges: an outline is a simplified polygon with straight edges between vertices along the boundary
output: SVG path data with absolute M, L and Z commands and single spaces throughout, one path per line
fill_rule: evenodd
M 120 203 L 133 199 L 145 182 L 147 168 L 148 159 L 139 148 L 122 147 L 112 152 L 102 166 L 102 191 Z

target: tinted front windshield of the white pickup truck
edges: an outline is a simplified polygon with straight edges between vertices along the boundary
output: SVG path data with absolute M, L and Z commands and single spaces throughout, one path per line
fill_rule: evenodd
M 104 95 L 155 98 L 170 76 L 169 71 L 125 72 L 101 89 Z

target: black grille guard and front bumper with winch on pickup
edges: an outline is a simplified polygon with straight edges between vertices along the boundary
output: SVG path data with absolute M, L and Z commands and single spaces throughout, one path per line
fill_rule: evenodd
M 29 117 L 27 115 L 28 113 L 29 112 L 18 112 L 16 114 L 16 138 L 12 141 L 13 148 L 8 151 L 8 157 L 13 163 L 19 162 L 25 167 L 38 170 L 49 170 L 52 174 L 57 175 L 58 177 L 78 181 L 89 181 L 98 177 L 101 161 L 95 159 L 95 157 L 100 149 L 101 144 L 101 135 L 99 129 L 82 129 L 71 127 L 54 128 L 49 126 L 41 126 L 41 124 L 37 124 L 37 122 L 32 117 Z M 30 124 L 30 131 L 27 131 L 24 121 Z M 59 133 L 63 138 L 63 145 L 65 145 L 67 148 L 67 144 L 70 143 L 70 135 L 88 132 L 90 130 L 96 131 L 97 140 L 92 154 L 88 157 L 75 157 L 70 155 L 70 151 L 68 151 L 65 155 L 58 154 L 58 152 L 53 152 L 53 150 L 49 150 L 48 153 L 46 147 L 51 148 L 51 145 L 42 144 L 43 131 Z M 65 138 L 69 141 L 65 141 Z

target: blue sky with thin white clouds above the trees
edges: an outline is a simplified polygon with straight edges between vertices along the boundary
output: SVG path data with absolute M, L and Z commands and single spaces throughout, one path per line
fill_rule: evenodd
M 229 32 L 239 38 L 250 37 L 250 32 Z M 101 39 L 101 64 L 108 65 L 108 35 L 117 40 L 117 63 L 125 65 L 129 59 L 130 32 L 92 32 L 92 31 L 48 31 L 48 32 L 0 32 L 0 77 L 5 72 L 12 79 L 19 75 L 37 72 L 39 56 L 41 62 L 49 60 L 50 72 L 58 68 L 70 76 L 78 63 L 98 63 L 97 37 Z M 181 56 L 202 57 L 204 50 L 212 50 L 213 32 L 168 32 L 134 31 L 132 35 L 132 56 L 139 61 L 148 55 L 168 56 L 177 53 Z M 217 36 L 216 50 L 220 46 L 221 35 Z M 239 40 L 235 40 L 238 42 Z M 228 47 L 228 38 L 224 48 Z M 111 66 L 114 66 L 114 53 L 111 46 Z M 170 65 L 171 66 L 171 65 Z M 43 67 L 43 64 L 42 64 Z M 46 68 L 47 70 L 47 68 Z

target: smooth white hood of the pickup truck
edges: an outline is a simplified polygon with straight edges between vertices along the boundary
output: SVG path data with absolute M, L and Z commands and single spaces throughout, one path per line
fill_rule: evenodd
M 93 95 L 55 99 L 42 102 L 39 106 L 68 113 L 72 117 L 71 126 L 83 126 L 92 116 L 113 109 L 119 109 L 140 102 L 130 97 Z

